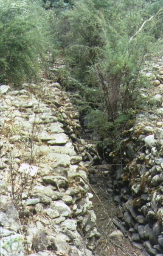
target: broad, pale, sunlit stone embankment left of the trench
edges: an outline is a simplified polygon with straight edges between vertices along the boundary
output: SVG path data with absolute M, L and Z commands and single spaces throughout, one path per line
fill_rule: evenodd
M 92 256 L 96 215 L 86 167 L 94 145 L 58 83 L 0 86 L 0 254 Z

